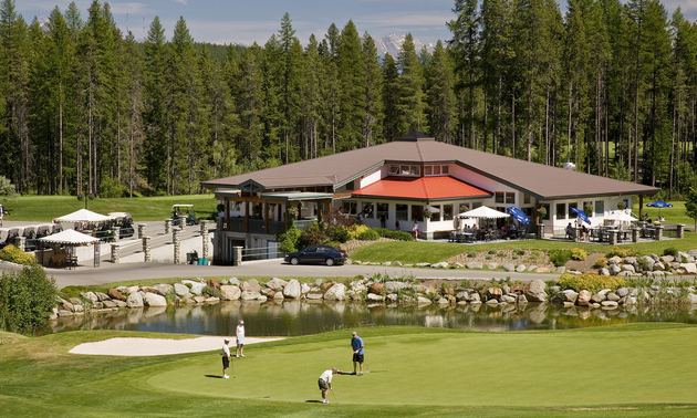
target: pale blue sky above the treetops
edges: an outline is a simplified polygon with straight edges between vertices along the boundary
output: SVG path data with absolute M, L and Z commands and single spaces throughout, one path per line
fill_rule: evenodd
M 623 2 L 626 0 L 622 0 Z M 30 23 L 34 17 L 48 18 L 58 6 L 65 12 L 71 0 L 19 0 L 17 12 Z M 86 20 L 92 0 L 74 0 L 82 19 Z M 566 0 L 558 0 L 562 13 Z M 288 12 L 295 36 L 306 44 L 314 33 L 324 38 L 334 23 L 340 30 L 352 20 L 360 34 L 374 39 L 391 33 L 412 35 L 428 44 L 447 41 L 451 33 L 446 22 L 455 19 L 455 0 L 142 0 L 108 1 L 116 24 L 136 39 L 147 35 L 153 19 L 159 17 L 165 35 L 171 38 L 175 23 L 184 17 L 197 42 L 263 45 L 281 28 Z M 697 0 L 662 0 L 668 17 L 680 6 L 690 21 L 697 19 Z

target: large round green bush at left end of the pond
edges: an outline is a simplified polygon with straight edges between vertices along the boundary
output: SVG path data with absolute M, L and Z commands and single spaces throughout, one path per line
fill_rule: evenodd
M 43 326 L 55 305 L 55 280 L 46 278 L 40 265 L 21 272 L 2 273 L 0 278 L 0 326 L 29 333 Z

